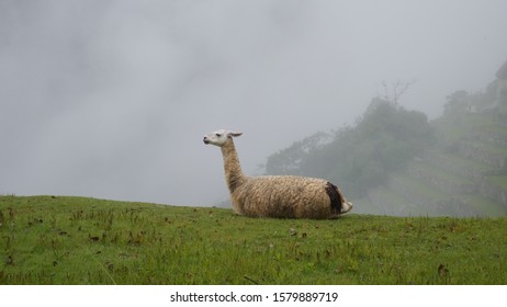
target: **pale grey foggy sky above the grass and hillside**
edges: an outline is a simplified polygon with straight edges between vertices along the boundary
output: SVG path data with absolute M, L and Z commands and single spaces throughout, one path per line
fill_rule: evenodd
M 430 118 L 507 59 L 507 1 L 0 0 L 0 194 L 176 205 L 353 124 L 382 82 Z

